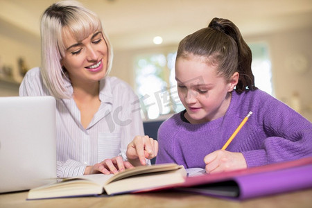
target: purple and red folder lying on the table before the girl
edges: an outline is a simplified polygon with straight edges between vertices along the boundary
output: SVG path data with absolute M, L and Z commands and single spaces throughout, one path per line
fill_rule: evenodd
M 176 190 L 245 200 L 312 188 L 312 158 L 189 177 Z

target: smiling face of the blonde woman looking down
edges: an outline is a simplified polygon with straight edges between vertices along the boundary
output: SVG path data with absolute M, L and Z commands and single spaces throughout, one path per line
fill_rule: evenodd
M 101 32 L 91 33 L 81 42 L 67 33 L 64 45 L 61 64 L 67 69 L 72 85 L 97 83 L 105 77 L 108 52 Z

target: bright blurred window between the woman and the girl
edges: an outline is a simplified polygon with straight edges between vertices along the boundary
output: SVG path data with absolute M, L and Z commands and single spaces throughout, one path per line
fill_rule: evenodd
M 144 119 L 157 119 L 184 109 L 175 83 L 176 53 L 155 53 L 135 60 L 136 91 Z

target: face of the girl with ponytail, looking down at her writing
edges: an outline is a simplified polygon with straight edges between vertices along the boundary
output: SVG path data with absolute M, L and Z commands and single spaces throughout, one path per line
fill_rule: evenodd
M 198 55 L 177 58 L 175 62 L 177 92 L 190 123 L 218 119 L 224 116 L 229 107 L 229 92 L 237 84 L 239 73 L 234 73 L 231 80 L 226 82 L 225 78 L 217 75 L 216 70 L 216 66 L 207 63 L 207 58 Z

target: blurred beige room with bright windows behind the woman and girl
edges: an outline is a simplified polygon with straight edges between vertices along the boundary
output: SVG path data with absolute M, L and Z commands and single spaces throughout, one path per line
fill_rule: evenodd
M 40 16 L 54 2 L 0 0 L 0 96 L 17 96 L 24 73 L 40 66 Z M 135 90 L 144 120 L 183 109 L 174 80 L 177 44 L 222 17 L 252 49 L 256 86 L 312 121 L 311 0 L 80 2 L 101 17 L 114 49 L 110 75 Z

